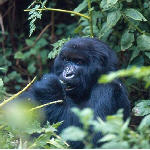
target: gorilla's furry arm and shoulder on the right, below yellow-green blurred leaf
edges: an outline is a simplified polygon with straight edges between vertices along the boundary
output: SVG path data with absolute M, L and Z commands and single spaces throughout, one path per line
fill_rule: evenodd
M 98 84 L 93 88 L 90 99 L 90 105 L 96 112 L 95 119 L 99 116 L 105 120 L 108 115 L 115 114 L 119 109 L 123 109 L 124 119 L 129 117 L 130 102 L 120 81 Z

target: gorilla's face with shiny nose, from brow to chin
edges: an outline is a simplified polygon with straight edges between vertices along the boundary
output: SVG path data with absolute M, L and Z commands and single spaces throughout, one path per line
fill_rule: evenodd
M 55 73 L 69 95 L 85 92 L 89 88 L 89 60 L 85 54 L 62 49 L 54 66 Z

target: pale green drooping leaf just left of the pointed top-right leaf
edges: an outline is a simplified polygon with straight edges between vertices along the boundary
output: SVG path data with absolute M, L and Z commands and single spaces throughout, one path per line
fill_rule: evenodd
M 119 21 L 120 17 L 121 17 L 120 11 L 113 11 L 109 13 L 107 16 L 107 25 L 110 26 L 110 28 L 112 28 Z

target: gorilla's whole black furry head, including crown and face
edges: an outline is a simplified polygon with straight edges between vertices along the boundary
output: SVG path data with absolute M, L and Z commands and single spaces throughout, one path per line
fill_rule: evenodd
M 116 54 L 94 38 L 71 39 L 64 44 L 54 63 L 54 72 L 69 96 L 87 94 L 101 74 L 116 69 Z

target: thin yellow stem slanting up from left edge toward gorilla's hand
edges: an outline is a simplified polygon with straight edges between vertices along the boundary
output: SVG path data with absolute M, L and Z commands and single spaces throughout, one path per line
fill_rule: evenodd
M 17 96 L 19 96 L 20 94 L 22 94 L 25 90 L 27 90 L 27 89 L 31 86 L 31 84 L 35 81 L 35 79 L 36 79 L 36 77 L 34 77 L 33 80 L 32 80 L 29 84 L 27 84 L 27 86 L 26 86 L 23 90 L 19 91 L 17 94 L 14 94 L 12 97 L 8 98 L 7 100 L 4 100 L 4 101 L 0 104 L 0 108 L 3 107 L 3 106 L 4 106 L 5 104 L 7 104 L 8 102 L 10 102 L 10 101 L 12 101 L 13 99 L 15 99 L 15 98 L 16 98 Z

